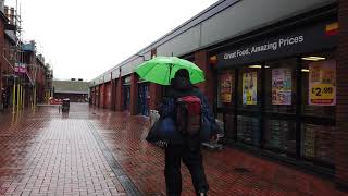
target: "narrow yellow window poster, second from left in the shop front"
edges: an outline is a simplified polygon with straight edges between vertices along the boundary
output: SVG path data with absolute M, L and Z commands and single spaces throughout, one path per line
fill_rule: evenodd
M 243 74 L 243 103 L 258 103 L 258 72 Z

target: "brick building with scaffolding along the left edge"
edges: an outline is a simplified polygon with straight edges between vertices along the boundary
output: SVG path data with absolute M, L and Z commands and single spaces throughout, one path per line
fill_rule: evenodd
M 1 4 L 0 17 L 0 110 L 15 112 L 48 101 L 52 70 L 35 41 L 23 41 L 17 11 Z

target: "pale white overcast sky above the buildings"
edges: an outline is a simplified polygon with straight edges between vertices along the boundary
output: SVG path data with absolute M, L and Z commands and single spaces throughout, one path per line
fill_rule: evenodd
M 216 0 L 17 0 L 23 36 L 59 79 L 90 81 Z M 15 0 L 5 0 L 14 5 Z

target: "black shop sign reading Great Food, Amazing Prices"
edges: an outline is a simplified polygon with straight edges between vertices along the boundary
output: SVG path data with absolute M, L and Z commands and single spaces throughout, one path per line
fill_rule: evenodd
M 326 27 L 332 22 L 309 25 L 286 34 L 262 38 L 247 46 L 217 54 L 217 68 L 264 61 L 281 57 L 312 52 L 333 48 L 337 44 L 336 34 L 327 34 Z

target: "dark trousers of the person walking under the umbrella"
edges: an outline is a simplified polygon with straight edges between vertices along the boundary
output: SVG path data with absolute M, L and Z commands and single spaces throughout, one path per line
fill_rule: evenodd
M 183 145 L 169 144 L 165 148 L 165 184 L 169 196 L 182 193 L 181 161 L 188 168 L 197 195 L 207 193 L 209 185 L 204 174 L 200 139 L 187 139 Z

